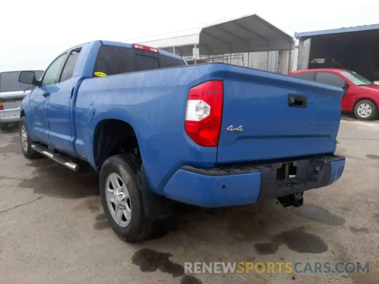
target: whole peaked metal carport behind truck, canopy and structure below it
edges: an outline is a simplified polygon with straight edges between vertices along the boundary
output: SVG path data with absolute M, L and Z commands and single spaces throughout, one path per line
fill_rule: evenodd
M 190 64 L 193 48 L 199 48 L 199 62 L 221 61 L 255 68 L 258 65 L 259 69 L 273 72 L 278 69 L 278 51 L 287 50 L 290 54 L 294 46 L 293 37 L 257 14 L 219 21 L 191 30 L 130 39 L 127 42 L 175 53 L 187 59 Z M 288 73 L 291 56 L 287 56 L 285 60 L 287 62 L 284 73 Z

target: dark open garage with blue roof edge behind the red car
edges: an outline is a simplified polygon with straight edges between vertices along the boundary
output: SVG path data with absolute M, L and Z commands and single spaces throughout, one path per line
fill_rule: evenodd
M 295 37 L 298 70 L 343 68 L 379 80 L 379 24 L 295 33 Z

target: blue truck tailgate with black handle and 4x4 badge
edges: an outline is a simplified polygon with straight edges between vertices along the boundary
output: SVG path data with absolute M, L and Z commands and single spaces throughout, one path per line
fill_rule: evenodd
M 323 84 L 227 66 L 217 163 L 333 153 L 342 94 Z

